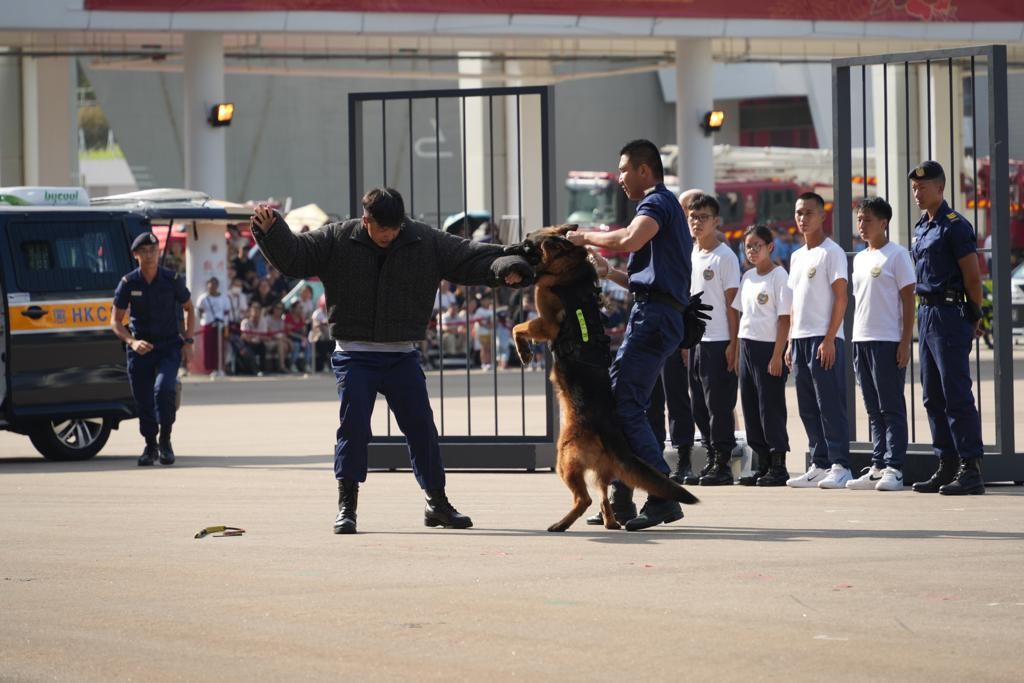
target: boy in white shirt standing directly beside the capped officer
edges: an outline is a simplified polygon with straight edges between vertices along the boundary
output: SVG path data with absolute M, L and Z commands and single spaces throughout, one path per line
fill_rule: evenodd
M 853 257 L 853 365 L 871 428 L 871 466 L 847 488 L 901 490 L 906 459 L 903 382 L 910 361 L 913 289 L 910 252 L 889 242 L 893 210 L 881 197 L 857 207 L 857 231 L 867 249 Z

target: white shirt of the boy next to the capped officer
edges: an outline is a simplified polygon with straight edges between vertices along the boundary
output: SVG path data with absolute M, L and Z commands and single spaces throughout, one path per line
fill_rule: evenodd
M 899 291 L 918 282 L 910 252 L 895 242 L 853 257 L 853 341 L 898 342 L 903 332 Z

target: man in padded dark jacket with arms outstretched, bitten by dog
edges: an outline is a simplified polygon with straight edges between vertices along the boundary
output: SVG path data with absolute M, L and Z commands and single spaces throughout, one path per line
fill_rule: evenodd
M 337 380 L 340 425 L 335 533 L 354 533 L 359 483 L 367 479 L 370 418 L 381 393 L 409 443 L 413 474 L 426 492 L 424 523 L 468 528 L 444 494 L 437 428 L 421 368 L 420 341 L 441 280 L 464 285 L 525 286 L 529 264 L 498 245 L 471 242 L 406 216 L 391 188 L 362 197 L 362 217 L 293 233 L 279 213 L 260 205 L 253 234 L 273 265 L 293 278 L 324 283 Z

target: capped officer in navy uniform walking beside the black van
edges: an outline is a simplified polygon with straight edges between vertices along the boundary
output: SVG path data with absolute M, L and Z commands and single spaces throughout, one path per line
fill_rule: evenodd
M 140 466 L 174 463 L 171 426 L 176 411 L 181 356 L 190 361 L 196 313 L 184 279 L 163 268 L 160 243 L 143 232 L 131 245 L 138 267 L 121 279 L 114 292 L 111 327 L 128 347 L 128 379 L 138 405 L 138 429 L 145 438 Z M 184 328 L 182 333 L 182 314 Z M 130 315 L 126 328 L 125 313 Z M 159 441 L 158 441 L 159 435 Z

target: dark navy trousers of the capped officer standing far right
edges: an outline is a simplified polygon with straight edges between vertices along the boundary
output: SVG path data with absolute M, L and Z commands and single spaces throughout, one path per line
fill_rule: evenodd
M 971 391 L 974 326 L 959 306 L 918 308 L 922 399 L 935 455 L 980 458 L 981 421 Z

